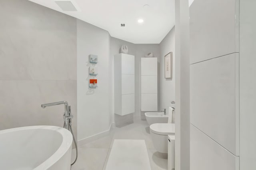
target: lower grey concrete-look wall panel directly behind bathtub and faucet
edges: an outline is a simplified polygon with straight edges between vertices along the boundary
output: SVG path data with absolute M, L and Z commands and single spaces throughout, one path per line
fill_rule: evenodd
M 63 126 L 64 105 L 41 108 L 41 104 L 66 100 L 72 106 L 73 131 L 77 132 L 76 80 L 0 80 L 0 130 L 20 126 Z

